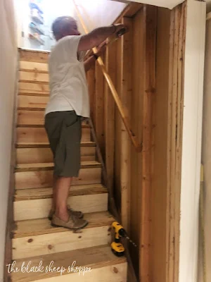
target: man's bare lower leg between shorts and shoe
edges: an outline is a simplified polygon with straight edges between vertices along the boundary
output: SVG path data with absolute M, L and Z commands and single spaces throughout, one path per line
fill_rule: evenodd
M 55 179 L 55 178 L 54 178 Z M 56 216 L 63 221 L 68 221 L 70 214 L 68 213 L 68 194 L 72 178 L 58 176 L 56 177 L 56 183 L 53 188 L 55 204 L 56 204 Z

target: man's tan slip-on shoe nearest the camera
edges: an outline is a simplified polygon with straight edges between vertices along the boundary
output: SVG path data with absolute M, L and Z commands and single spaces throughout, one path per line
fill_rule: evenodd
M 70 214 L 68 222 L 63 221 L 62 219 L 59 219 L 55 214 L 53 214 L 52 220 L 51 220 L 51 226 L 53 227 L 64 227 L 71 230 L 77 230 L 84 228 L 87 226 L 88 221 L 85 219 L 77 219 L 77 217 L 72 216 Z

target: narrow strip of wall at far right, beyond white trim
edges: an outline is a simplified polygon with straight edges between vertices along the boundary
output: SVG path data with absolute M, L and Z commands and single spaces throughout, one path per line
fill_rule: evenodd
M 204 80 L 204 101 L 203 101 L 203 143 L 202 143 L 202 164 L 204 165 L 204 209 L 205 209 L 205 259 L 207 264 L 207 281 L 211 281 L 211 20 L 207 20 L 206 47 L 205 47 L 205 80 Z M 201 234 L 201 231 L 200 231 Z M 203 257 L 199 253 L 198 282 L 203 282 Z

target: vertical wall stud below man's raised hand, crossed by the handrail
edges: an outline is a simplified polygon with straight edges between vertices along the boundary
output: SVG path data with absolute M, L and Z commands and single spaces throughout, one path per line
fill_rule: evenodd
M 132 19 L 122 18 L 122 24 L 129 29 L 122 36 L 122 51 L 121 51 L 121 100 L 122 104 L 127 109 L 127 116 L 131 116 L 131 97 L 132 97 Z M 140 141 L 139 141 L 140 142 Z M 141 142 L 140 142 L 141 143 Z M 130 139 L 124 123 L 121 122 L 121 142 L 120 142 L 120 188 L 121 188 L 121 219 L 124 228 L 130 232 L 130 194 L 131 194 L 131 156 L 130 156 Z

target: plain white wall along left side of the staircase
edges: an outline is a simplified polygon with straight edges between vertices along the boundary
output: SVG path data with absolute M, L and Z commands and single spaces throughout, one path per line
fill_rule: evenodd
M 0 281 L 3 281 L 13 101 L 17 64 L 13 0 L 1 0 L 0 11 Z

